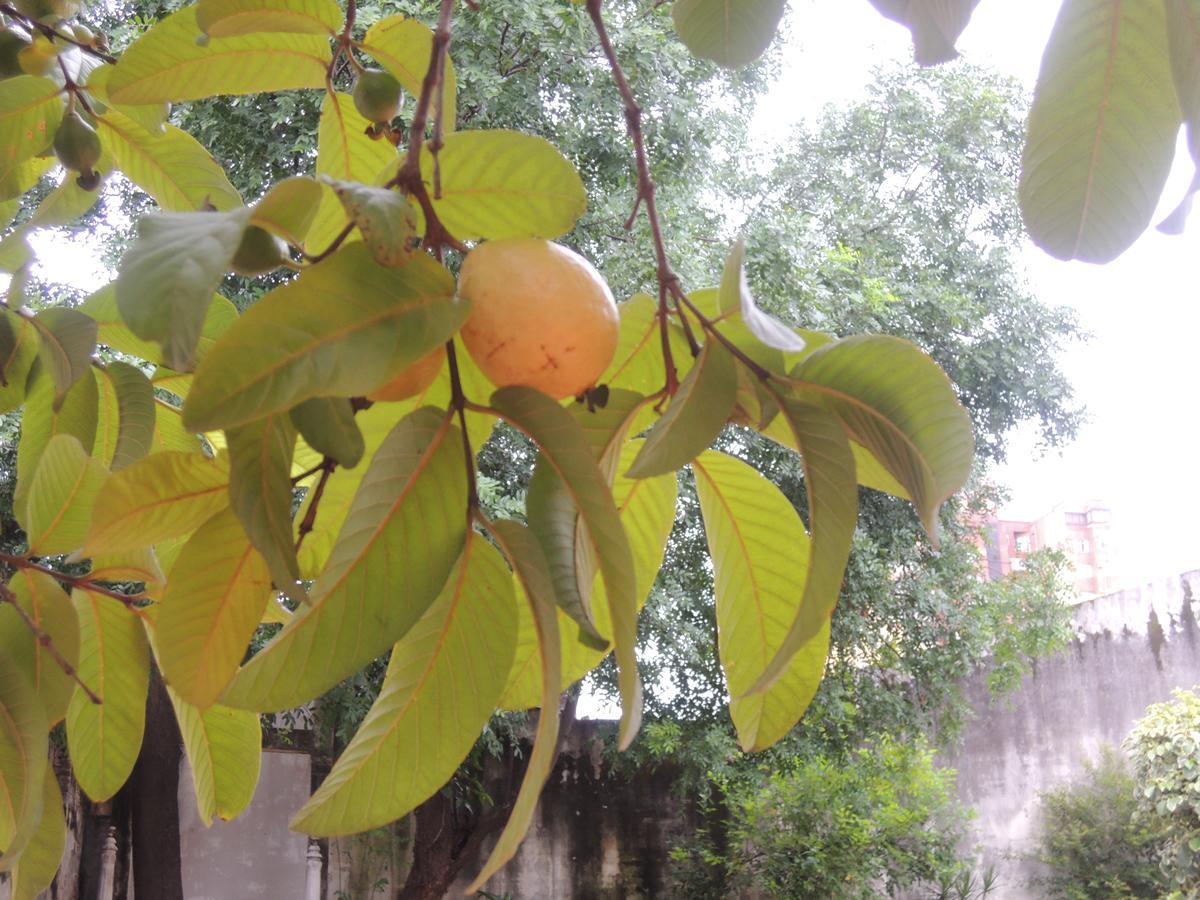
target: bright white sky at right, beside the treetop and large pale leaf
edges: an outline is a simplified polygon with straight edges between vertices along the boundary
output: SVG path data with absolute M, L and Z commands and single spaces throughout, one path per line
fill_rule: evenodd
M 1032 90 L 1057 8 L 1051 0 L 984 0 L 959 49 Z M 786 25 L 786 68 L 758 112 L 760 133 L 782 137 L 824 104 L 860 95 L 875 64 L 912 59 L 907 30 L 866 0 L 793 0 Z M 1162 215 L 1190 175 L 1181 150 Z M 1012 491 L 1002 512 L 1033 518 L 1062 500 L 1108 500 L 1115 551 L 1134 581 L 1200 568 L 1198 256 L 1200 210 L 1183 236 L 1147 232 L 1105 266 L 1061 263 L 1032 246 L 1026 253 L 1034 293 L 1073 306 L 1093 334 L 1063 359 L 1091 422 L 1073 445 L 1042 458 L 1032 434 L 1014 439 L 1010 463 L 995 473 Z

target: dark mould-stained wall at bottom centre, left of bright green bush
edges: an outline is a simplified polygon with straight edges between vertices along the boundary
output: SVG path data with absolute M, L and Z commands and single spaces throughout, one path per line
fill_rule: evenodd
M 628 778 L 605 770 L 601 739 L 614 722 L 580 721 L 551 774 L 533 826 L 509 865 L 487 882 L 494 895 L 514 898 L 667 896 L 671 846 L 690 828 L 673 794 L 674 772 L 660 768 Z M 479 860 L 446 894 L 462 896 Z

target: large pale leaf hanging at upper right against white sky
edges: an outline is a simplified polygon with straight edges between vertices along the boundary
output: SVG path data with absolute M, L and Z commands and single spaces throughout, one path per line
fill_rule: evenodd
M 1034 244 L 1106 263 L 1150 223 L 1175 154 L 1162 4 L 1067 0 L 1030 109 L 1020 202 Z

